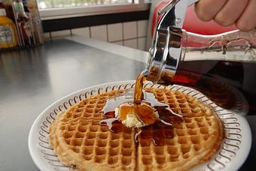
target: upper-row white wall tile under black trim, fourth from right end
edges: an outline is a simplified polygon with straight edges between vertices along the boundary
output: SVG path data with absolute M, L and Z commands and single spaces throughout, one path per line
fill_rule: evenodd
M 97 40 L 103 40 L 107 41 L 107 26 L 101 25 L 101 26 L 92 26 L 90 27 L 90 32 L 92 38 L 95 38 Z

